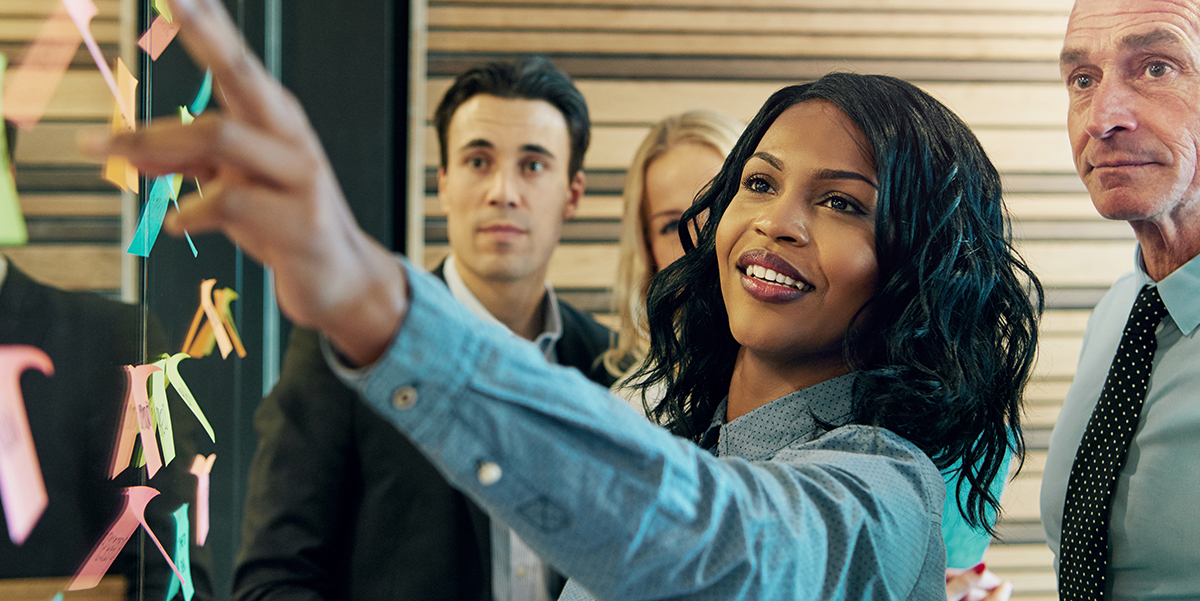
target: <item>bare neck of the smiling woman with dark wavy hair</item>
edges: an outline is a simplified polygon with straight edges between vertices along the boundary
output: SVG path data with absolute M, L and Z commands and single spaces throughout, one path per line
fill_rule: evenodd
M 841 361 L 797 363 L 794 357 L 778 360 L 742 347 L 730 378 L 725 420 L 733 421 L 779 397 L 847 373 Z

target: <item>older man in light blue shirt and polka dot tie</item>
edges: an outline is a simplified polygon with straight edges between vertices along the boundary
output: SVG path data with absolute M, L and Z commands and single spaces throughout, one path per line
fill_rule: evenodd
M 1075 167 L 1138 251 L 1050 438 L 1060 596 L 1200 599 L 1200 5 L 1078 0 L 1061 67 Z

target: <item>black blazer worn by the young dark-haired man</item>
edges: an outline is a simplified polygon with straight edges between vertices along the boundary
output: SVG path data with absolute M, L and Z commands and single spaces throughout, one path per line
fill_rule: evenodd
M 608 330 L 559 311 L 558 362 L 611 385 Z M 293 330 L 254 427 L 235 601 L 492 599 L 487 515 L 332 374 L 316 332 Z

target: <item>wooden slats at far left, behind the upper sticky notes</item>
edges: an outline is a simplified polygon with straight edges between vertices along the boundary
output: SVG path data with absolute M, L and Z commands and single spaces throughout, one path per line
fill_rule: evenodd
M 10 72 L 59 4 L 0 2 L 0 53 Z M 112 61 L 121 47 L 121 0 L 95 4 L 100 12 L 91 31 Z M 112 112 L 113 95 L 80 44 L 41 122 L 17 134 L 17 190 L 30 240 L 0 252 L 38 280 L 115 298 L 121 290 L 121 196 L 101 179 L 100 164 L 76 149 L 76 133 L 107 124 Z

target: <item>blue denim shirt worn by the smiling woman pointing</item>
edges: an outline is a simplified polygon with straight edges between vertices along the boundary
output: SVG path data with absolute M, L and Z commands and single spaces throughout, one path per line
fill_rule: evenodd
M 888 431 L 822 433 L 812 420 L 845 415 L 815 401 L 848 398 L 853 377 L 725 425 L 718 457 L 406 268 L 410 305 L 390 348 L 358 372 L 331 360 L 335 372 L 572 589 L 944 599 L 944 485 L 932 462 Z

